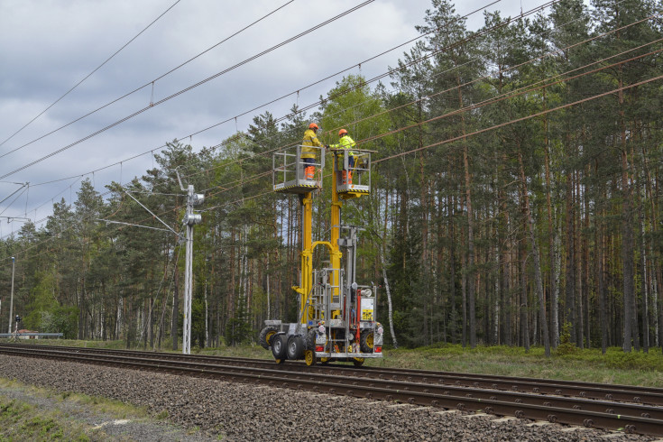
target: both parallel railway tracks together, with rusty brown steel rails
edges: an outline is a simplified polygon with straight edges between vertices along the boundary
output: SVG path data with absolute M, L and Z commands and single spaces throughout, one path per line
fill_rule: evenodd
M 0 354 L 67 360 L 272 387 L 395 401 L 447 410 L 548 420 L 663 436 L 663 389 L 466 373 L 394 370 L 205 355 L 0 345 Z

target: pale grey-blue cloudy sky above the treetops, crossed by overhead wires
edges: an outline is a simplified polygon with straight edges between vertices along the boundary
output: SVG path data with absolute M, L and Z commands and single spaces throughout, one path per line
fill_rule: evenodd
M 342 75 L 300 90 L 299 96 L 293 92 L 417 37 L 415 25 L 423 23 L 431 5 L 430 0 L 375 0 L 318 27 L 363 3 L 0 0 L 0 201 L 4 200 L 0 203 L 0 237 L 22 225 L 20 220 L 8 223 L 5 216 L 41 220 L 51 214 L 53 201 L 65 198 L 73 202 L 82 178 L 93 180 L 96 189 L 104 192 L 112 180 L 126 182 L 143 175 L 152 168 L 152 155 L 132 157 L 159 152 L 173 139 L 184 139 L 198 150 L 220 143 L 236 130 L 245 130 L 253 115 L 269 111 L 279 117 L 293 104 L 316 102 Z M 468 14 L 491 3 L 493 0 L 457 1 L 456 12 Z M 520 14 L 521 7 L 528 10 L 545 3 L 501 0 L 486 10 L 515 15 Z M 482 12 L 468 18 L 472 30 L 482 23 Z M 310 28 L 318 29 L 149 107 L 151 102 L 196 85 Z M 235 32 L 239 33 L 161 78 Z M 128 41 L 122 51 L 97 69 Z M 355 67 L 346 73 L 373 78 L 395 66 L 407 49 L 401 47 L 363 63 L 361 71 Z M 139 87 L 143 88 L 106 106 Z M 105 107 L 74 123 L 101 106 Z M 235 122 L 235 115 L 258 106 L 262 107 Z M 139 111 L 143 112 L 87 138 Z M 230 122 L 196 134 L 189 142 L 189 134 L 225 120 Z M 22 188 L 23 183 L 30 186 Z

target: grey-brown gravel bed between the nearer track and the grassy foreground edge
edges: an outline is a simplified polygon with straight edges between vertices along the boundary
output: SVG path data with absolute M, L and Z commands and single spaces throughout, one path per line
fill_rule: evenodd
M 0 355 L 0 377 L 168 412 L 223 440 L 654 440 L 495 416 L 129 369 Z M 1 392 L 1 391 L 0 391 Z M 140 440 L 140 436 L 136 435 Z

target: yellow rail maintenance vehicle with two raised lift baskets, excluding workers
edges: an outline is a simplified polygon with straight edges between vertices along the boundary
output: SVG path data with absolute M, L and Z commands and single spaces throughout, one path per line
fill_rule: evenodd
M 342 225 L 341 207 L 345 201 L 371 192 L 373 152 L 329 150 L 334 161 L 330 238 L 313 241 L 312 200 L 314 192 L 322 189 L 326 149 L 306 146 L 307 152 L 315 152 L 315 162 L 305 165 L 301 159 L 304 147 L 290 146 L 275 152 L 272 158 L 274 191 L 299 196 L 301 261 L 299 286 L 292 288 L 299 298 L 299 320 L 266 320 L 259 341 L 265 349 L 272 349 L 277 364 L 303 359 L 308 365 L 342 361 L 360 366 L 366 358 L 382 357 L 384 330 L 375 318 L 377 288 L 373 283 L 360 285 L 355 281 L 357 233 L 363 229 Z M 316 168 L 313 176 L 304 172 L 311 166 Z M 317 247 L 325 248 L 329 257 L 328 266 L 322 269 L 313 269 Z

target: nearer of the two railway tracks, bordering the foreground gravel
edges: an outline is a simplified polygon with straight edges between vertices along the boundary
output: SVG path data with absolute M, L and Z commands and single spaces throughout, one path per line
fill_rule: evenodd
M 225 381 L 262 383 L 277 387 L 345 394 L 353 397 L 400 401 L 457 410 L 482 410 L 520 419 L 610 429 L 625 429 L 649 435 L 663 435 L 663 409 L 640 404 L 589 401 L 516 391 L 493 391 L 456 385 L 436 385 L 396 380 L 354 378 L 320 373 L 286 373 L 271 369 L 200 364 L 188 361 L 146 358 L 144 355 L 108 355 L 84 348 L 51 350 L 2 345 L 0 353 L 38 358 L 71 360 L 86 364 L 128 366 L 161 373 L 185 374 Z M 72 350 L 75 350 L 72 352 Z M 176 358 L 181 359 L 181 358 Z M 303 365 L 303 364 L 300 364 Z M 638 416 L 640 414 L 640 416 Z

